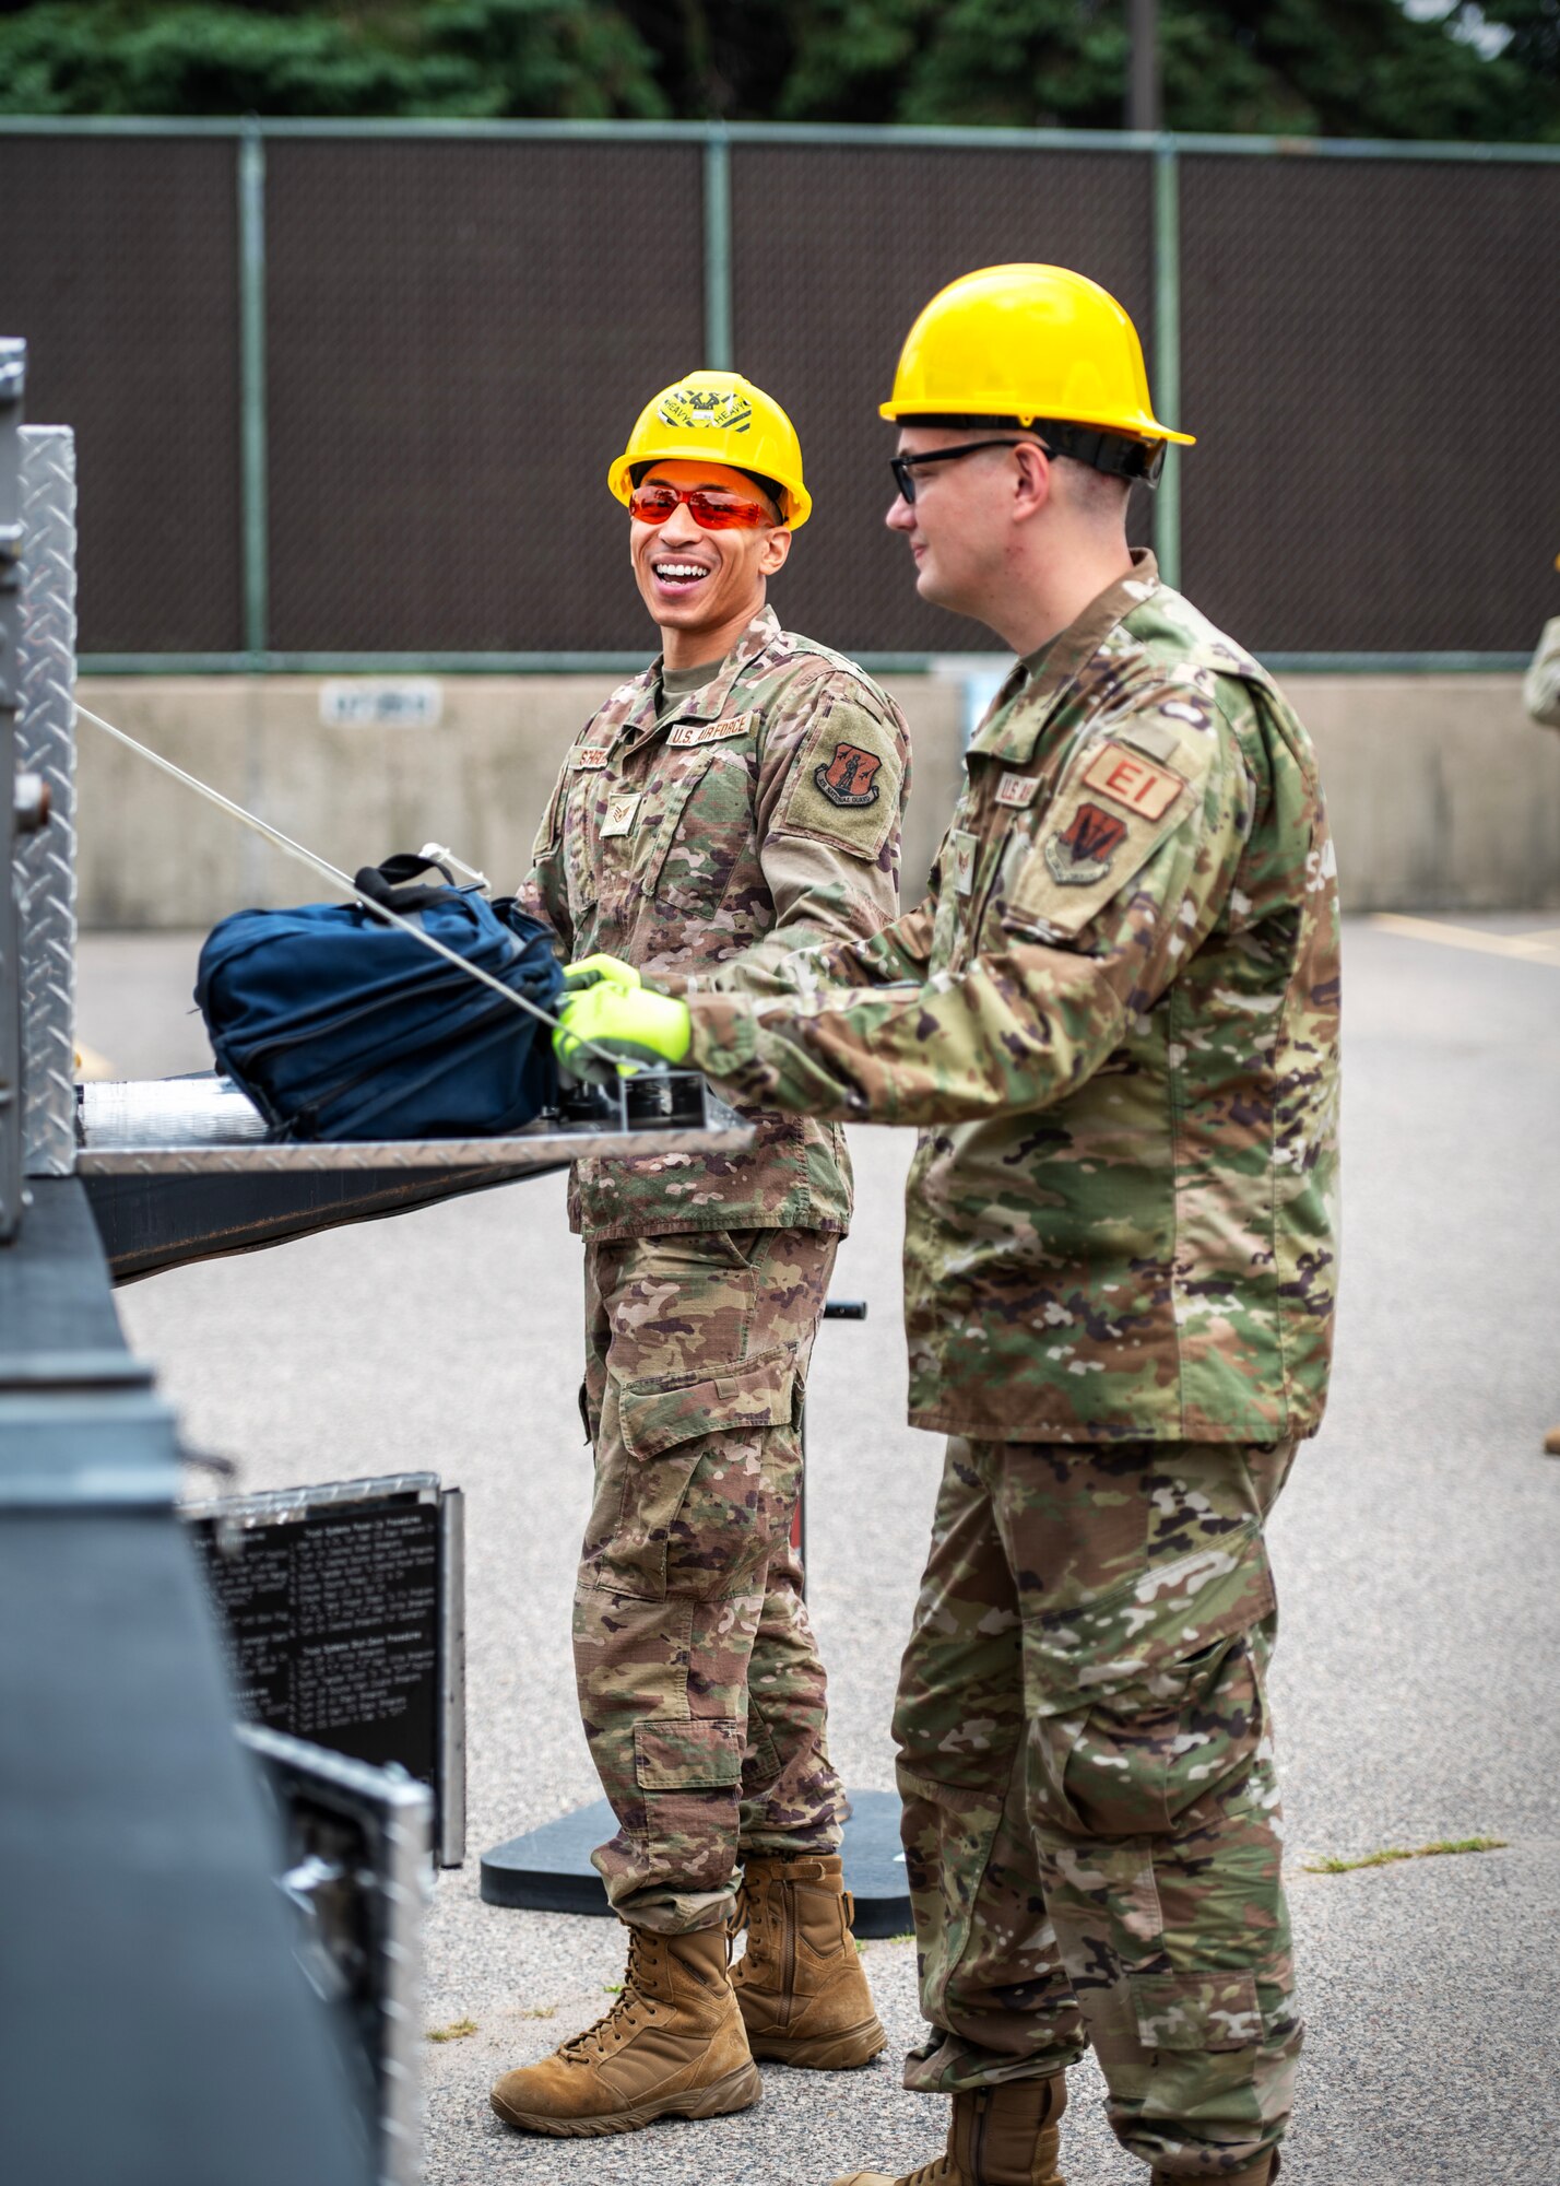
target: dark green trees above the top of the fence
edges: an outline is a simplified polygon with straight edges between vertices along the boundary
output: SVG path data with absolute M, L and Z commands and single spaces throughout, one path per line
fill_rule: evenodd
M 1162 0 L 1160 22 L 1171 129 L 1560 140 L 1560 0 Z M 0 0 L 0 109 L 35 114 L 1114 129 L 1125 79 L 1125 0 Z

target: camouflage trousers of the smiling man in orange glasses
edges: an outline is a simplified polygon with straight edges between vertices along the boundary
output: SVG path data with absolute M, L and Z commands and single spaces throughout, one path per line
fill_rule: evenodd
M 594 1865 L 645 1928 L 723 1921 L 745 1854 L 839 1845 L 824 1666 L 791 1548 L 837 1242 L 754 1229 L 586 1246 L 596 1491 L 575 1677 L 618 1819 Z

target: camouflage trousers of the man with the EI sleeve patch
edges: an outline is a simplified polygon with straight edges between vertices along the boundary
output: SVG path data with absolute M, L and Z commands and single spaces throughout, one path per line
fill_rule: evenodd
M 1092 2042 L 1119 2140 L 1219 2177 L 1283 2138 L 1263 1519 L 1293 1441 L 948 1443 L 894 1716 L 931 2037 L 905 2085 Z

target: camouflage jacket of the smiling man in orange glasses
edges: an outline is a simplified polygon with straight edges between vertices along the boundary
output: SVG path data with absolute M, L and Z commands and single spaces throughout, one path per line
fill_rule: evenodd
M 701 691 L 666 704 L 655 660 L 586 724 L 520 903 L 570 957 L 605 949 L 673 990 L 763 988 L 769 957 L 894 918 L 907 789 L 894 700 L 765 608 Z M 743 1108 L 758 1126 L 743 1154 L 575 1163 L 572 1229 L 848 1229 L 839 1126 Z

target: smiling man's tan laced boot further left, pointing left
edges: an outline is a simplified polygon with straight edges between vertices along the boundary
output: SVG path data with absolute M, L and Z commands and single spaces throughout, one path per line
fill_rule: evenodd
M 505 2072 L 494 2109 L 527 2134 L 631 2134 L 655 2118 L 723 2118 L 760 2101 L 725 1970 L 725 1928 L 629 1930 L 623 1996 L 542 2064 Z

